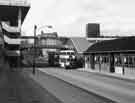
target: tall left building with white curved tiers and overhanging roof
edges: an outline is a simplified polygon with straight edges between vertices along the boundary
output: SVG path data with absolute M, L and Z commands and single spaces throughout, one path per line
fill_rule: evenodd
M 20 57 L 21 25 L 30 8 L 25 0 L 0 0 L 0 23 L 6 60 L 15 66 Z

